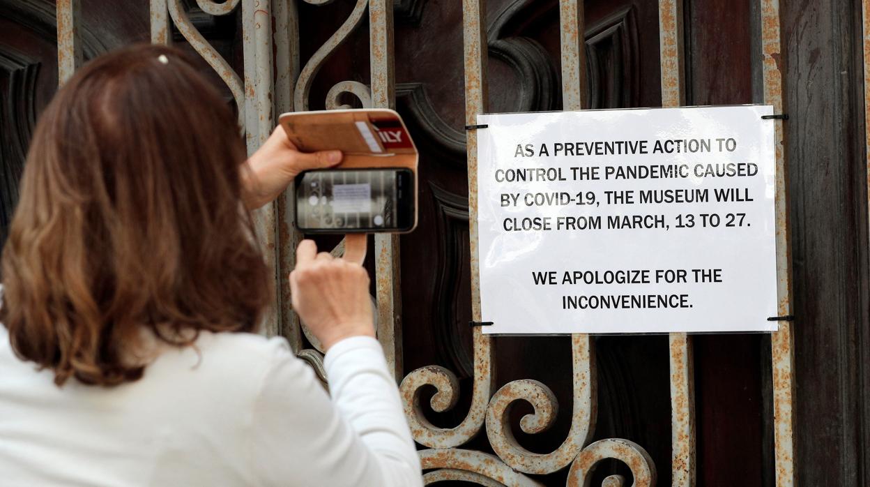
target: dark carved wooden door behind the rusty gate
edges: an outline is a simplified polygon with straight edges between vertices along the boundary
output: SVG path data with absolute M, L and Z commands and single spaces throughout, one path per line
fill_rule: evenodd
M 213 18 L 187 3 L 197 28 L 241 71 L 239 16 Z M 472 362 L 461 9 L 447 0 L 396 3 L 397 106 L 422 152 L 419 227 L 401 241 L 405 373 L 432 364 L 457 373 L 463 387 L 457 408 L 428 416 L 452 426 L 467 410 Z M 870 269 L 860 2 L 781 3 L 797 471 L 802 485 L 867 485 Z M 85 57 L 148 40 L 144 0 L 82 4 Z M 303 62 L 351 7 L 345 0 L 300 5 Z M 585 8 L 592 107 L 660 105 L 657 3 L 587 0 Z M 0 240 L 30 132 L 57 86 L 54 9 L 47 0 L 0 0 Z M 685 10 L 687 102 L 760 102 L 755 3 L 686 0 Z M 487 34 L 492 112 L 559 110 L 558 2 L 489 0 Z M 323 107 L 336 82 L 368 81 L 367 45 L 364 24 L 319 73 L 312 109 Z M 226 96 L 229 102 L 229 91 Z M 530 450 L 555 449 L 570 425 L 568 340 L 497 338 L 495 346 L 497 385 L 538 379 L 558 397 L 562 413 L 552 430 L 528 436 L 514 429 Z M 666 336 L 599 336 L 595 346 L 595 437 L 641 444 L 653 456 L 659 484 L 670 484 Z M 698 335 L 694 347 L 699 485 L 773 485 L 769 337 Z M 489 450 L 485 436 L 468 447 Z M 599 476 L 619 470 L 606 463 Z M 563 471 L 544 480 L 561 485 L 564 478 Z

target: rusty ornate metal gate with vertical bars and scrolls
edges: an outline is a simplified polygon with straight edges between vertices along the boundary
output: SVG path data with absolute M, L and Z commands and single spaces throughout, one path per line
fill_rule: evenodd
M 304 0 L 323 5 L 332 0 Z M 761 15 L 761 51 L 757 55 L 763 66 L 764 103 L 774 112 L 783 112 L 782 72 L 780 71 L 779 0 L 758 0 Z M 275 114 L 304 111 L 314 77 L 325 60 L 357 30 L 366 14 L 369 24 L 371 81 L 364 85 L 344 81 L 331 87 L 325 105 L 341 108 L 339 97 L 351 93 L 365 107 L 395 105 L 393 76 L 393 0 L 356 0 L 350 17 L 300 66 L 298 15 L 294 0 L 196 0 L 198 7 L 212 16 L 223 16 L 241 9 L 244 43 L 244 76 L 239 77 L 197 31 L 184 10 L 182 0 L 151 0 L 151 41 L 171 42 L 171 24 L 193 49 L 204 58 L 229 87 L 238 105 L 239 124 L 244 128 L 248 152 L 255 151 L 268 137 Z M 239 7 L 239 3 L 241 6 Z M 485 0 L 462 0 L 465 59 L 465 124 L 475 124 L 475 117 L 487 112 L 486 106 L 486 39 L 484 29 Z M 867 5 L 867 0 L 864 2 Z M 867 20 L 865 9 L 865 25 Z M 61 83 L 81 63 L 81 43 L 77 36 L 79 0 L 57 0 L 58 69 Z M 685 102 L 683 79 L 682 0 L 659 0 L 659 54 L 661 64 L 662 105 L 679 106 Z M 583 3 L 559 0 L 561 38 L 562 94 L 565 110 L 582 110 L 586 89 L 586 66 Z M 865 45 L 867 41 L 865 41 Z M 865 48 L 865 57 L 868 49 Z M 867 63 L 865 63 L 867 66 Z M 865 78 L 867 78 L 866 75 Z M 779 315 L 791 315 L 791 267 L 786 219 L 786 179 L 783 127 L 776 124 L 777 164 L 777 271 L 779 275 Z M 477 260 L 477 139 L 468 132 L 467 161 L 472 254 L 472 315 L 480 320 Z M 293 267 L 293 248 L 300 235 L 293 229 L 288 211 L 292 195 L 284 193 L 271 206 L 256 215 L 258 233 L 272 268 L 276 269 L 277 302 L 275 312 L 266 319 L 269 335 L 284 335 L 294 351 L 310 362 L 322 375 L 323 351 L 318 341 L 300 327 L 291 310 L 289 286 L 284 276 Z M 333 253 L 340 254 L 342 245 Z M 376 235 L 376 299 L 378 340 L 384 346 L 387 361 L 397 379 L 402 373 L 402 324 L 399 293 L 398 237 Z M 304 349 L 303 335 L 313 349 Z M 596 423 L 596 370 L 589 335 L 572 335 L 572 418 L 570 431 L 558 449 L 547 454 L 525 450 L 514 439 L 507 413 L 519 401 L 532 404 L 534 413 L 524 416 L 520 428 L 534 434 L 545 430 L 555 419 L 558 405 L 547 386 L 533 380 L 517 380 L 494 390 L 493 343 L 479 328 L 473 331 L 473 391 L 471 408 L 458 426 L 442 429 L 426 419 L 420 407 L 420 391 L 434 386 L 432 409 L 451 409 L 458 401 L 458 380 L 451 370 L 440 366 L 424 367 L 405 375 L 401 393 L 405 415 L 414 439 L 426 447 L 419 455 L 425 470 L 426 484 L 446 480 L 464 480 L 480 485 L 536 485 L 525 474 L 549 474 L 569 468 L 568 484 L 588 485 L 592 470 L 606 458 L 626 463 L 634 484 L 653 485 L 656 466 L 642 445 L 619 438 L 591 443 Z M 692 338 L 671 334 L 670 376 L 672 409 L 672 476 L 673 485 L 695 484 L 695 427 L 693 399 Z M 794 484 L 793 463 L 793 335 L 788 321 L 780 322 L 780 332 L 773 334 L 773 437 L 775 476 L 779 486 Z M 565 357 L 566 367 L 568 357 Z M 492 456 L 463 449 L 481 430 L 489 440 Z M 662 466 L 659 466 L 661 468 Z M 622 485 L 625 479 L 607 477 L 604 485 Z

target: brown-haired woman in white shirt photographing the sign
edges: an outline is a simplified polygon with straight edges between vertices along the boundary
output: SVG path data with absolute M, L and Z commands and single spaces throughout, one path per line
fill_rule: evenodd
M 290 276 L 331 401 L 284 339 L 248 333 L 273 291 L 244 206 L 340 159 L 278 129 L 243 165 L 178 51 L 78 71 L 37 125 L 3 250 L 0 484 L 421 485 L 363 267 L 305 240 Z

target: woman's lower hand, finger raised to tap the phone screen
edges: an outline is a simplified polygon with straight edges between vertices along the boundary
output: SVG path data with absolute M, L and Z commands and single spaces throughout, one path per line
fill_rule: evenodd
M 324 350 L 351 336 L 374 336 L 365 267 L 329 253 L 318 254 L 312 240 L 296 249 L 296 268 L 290 273 L 293 309 Z

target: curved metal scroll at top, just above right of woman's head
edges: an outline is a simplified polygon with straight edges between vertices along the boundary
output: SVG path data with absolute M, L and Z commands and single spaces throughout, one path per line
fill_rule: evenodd
M 197 5 L 206 13 L 211 15 L 225 15 L 232 11 L 238 5 L 239 0 L 228 0 L 226 3 L 213 3 L 208 0 L 197 0 Z M 226 8 L 226 7 L 231 8 Z M 191 23 L 191 19 L 187 17 L 187 12 L 181 4 L 181 0 L 169 0 L 169 15 L 172 22 L 184 36 L 184 39 L 191 44 L 194 51 L 197 51 L 206 63 L 211 66 L 218 76 L 224 80 L 227 87 L 232 92 L 232 98 L 236 101 L 238 107 L 238 125 L 244 127 L 244 85 L 242 79 L 239 78 L 236 71 L 232 69 L 226 59 L 218 54 L 218 51 L 209 44 L 205 37 L 199 33 L 196 27 Z M 212 13 L 218 12 L 218 13 Z

